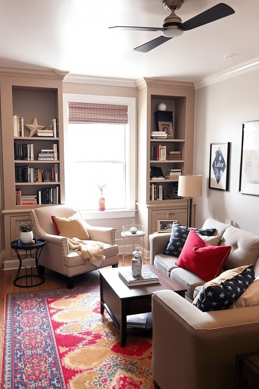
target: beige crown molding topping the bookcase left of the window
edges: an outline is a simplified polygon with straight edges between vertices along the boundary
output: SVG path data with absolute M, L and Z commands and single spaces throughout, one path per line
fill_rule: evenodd
M 52 79 L 61 79 L 68 74 L 64 70 L 58 69 L 21 69 L 21 68 L 7 68 L 0 67 L 0 75 L 10 75 L 13 77 L 37 77 L 37 78 L 52 78 Z

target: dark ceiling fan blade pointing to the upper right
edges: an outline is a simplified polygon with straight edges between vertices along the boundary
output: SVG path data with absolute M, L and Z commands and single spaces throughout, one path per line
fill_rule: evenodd
M 194 18 L 180 24 L 179 27 L 184 31 L 192 30 L 193 28 L 225 18 L 225 16 L 229 16 L 234 13 L 235 11 L 233 8 L 229 7 L 229 5 L 219 3 L 214 5 L 214 7 L 207 9 L 207 11 L 204 11 L 201 14 L 194 16 Z

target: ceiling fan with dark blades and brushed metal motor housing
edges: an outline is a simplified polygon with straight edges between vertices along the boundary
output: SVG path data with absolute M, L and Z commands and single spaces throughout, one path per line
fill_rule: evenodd
M 163 6 L 165 9 L 171 11 L 171 13 L 163 21 L 162 28 L 129 26 L 115 26 L 109 28 L 118 28 L 120 30 L 130 31 L 162 31 L 162 35 L 160 37 L 150 40 L 149 42 L 134 49 L 136 51 L 141 51 L 142 53 L 147 53 L 148 51 L 155 49 L 155 47 L 160 46 L 162 43 L 167 42 L 167 40 L 179 37 L 184 31 L 192 30 L 193 28 L 203 26 L 207 23 L 214 22 L 215 20 L 225 18 L 226 16 L 235 13 L 233 8 L 229 7 L 229 5 L 219 3 L 214 5 L 214 7 L 207 9 L 207 11 L 204 11 L 182 23 L 181 18 L 175 14 L 175 11 L 181 8 L 182 5 L 183 0 L 163 0 Z

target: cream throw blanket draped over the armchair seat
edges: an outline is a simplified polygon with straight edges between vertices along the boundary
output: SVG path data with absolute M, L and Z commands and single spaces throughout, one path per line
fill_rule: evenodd
M 101 242 L 96 242 L 95 240 L 80 240 L 78 238 L 67 238 L 67 240 L 70 250 L 79 251 L 82 258 L 85 259 L 85 262 L 89 261 L 90 263 L 99 266 L 101 261 L 104 261 L 105 256 L 103 255 L 103 244 Z M 96 261 L 99 262 L 98 265 L 95 263 Z

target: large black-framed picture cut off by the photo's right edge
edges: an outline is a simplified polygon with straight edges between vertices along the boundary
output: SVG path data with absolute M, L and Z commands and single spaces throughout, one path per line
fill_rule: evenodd
M 259 196 L 259 120 L 242 123 L 239 193 Z

